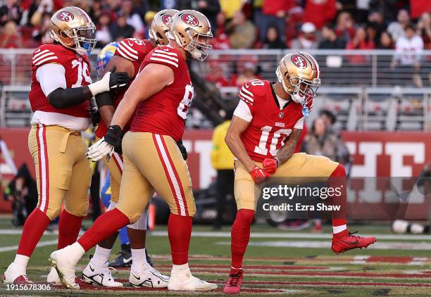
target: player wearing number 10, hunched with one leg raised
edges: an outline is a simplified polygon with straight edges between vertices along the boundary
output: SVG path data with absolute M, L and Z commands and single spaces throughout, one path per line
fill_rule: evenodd
M 346 172 L 339 163 L 323 156 L 293 153 L 301 135 L 304 117 L 313 108 L 320 86 L 319 65 L 308 53 L 289 53 L 277 67 L 278 82 L 251 80 L 239 91 L 239 104 L 225 141 L 235 155 L 235 201 L 237 217 L 232 225 L 230 276 L 225 293 L 239 293 L 243 270 L 242 258 L 250 237 L 256 203 L 262 184 L 268 177 L 290 177 L 297 182 L 328 182 L 339 187 Z M 338 184 L 337 184 L 338 182 Z M 346 202 L 346 187 L 338 201 Z M 375 237 L 351 235 L 342 212 L 332 213 L 332 251 L 343 253 L 365 248 Z

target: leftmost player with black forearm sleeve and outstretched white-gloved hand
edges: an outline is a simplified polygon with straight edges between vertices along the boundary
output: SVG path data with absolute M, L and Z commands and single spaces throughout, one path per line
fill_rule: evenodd
M 54 44 L 44 44 L 33 52 L 29 99 L 34 114 L 28 146 L 35 161 L 39 202 L 25 221 L 15 260 L 4 272 L 5 282 L 28 282 L 28 260 L 46 227 L 60 215 L 63 202 L 58 248 L 77 239 L 87 215 L 91 169 L 81 131 L 90 122 L 89 100 L 125 86 L 128 80 L 126 73 L 106 72 L 99 82 L 92 83 L 88 54 L 96 44 L 95 30 L 81 8 L 63 8 L 51 18 Z M 55 282 L 57 278 L 51 270 L 47 280 Z

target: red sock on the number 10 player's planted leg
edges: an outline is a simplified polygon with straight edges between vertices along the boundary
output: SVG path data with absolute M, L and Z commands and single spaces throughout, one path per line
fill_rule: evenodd
M 232 267 L 242 268 L 242 258 L 249 244 L 250 226 L 254 219 L 254 210 L 240 209 L 232 225 L 230 251 Z

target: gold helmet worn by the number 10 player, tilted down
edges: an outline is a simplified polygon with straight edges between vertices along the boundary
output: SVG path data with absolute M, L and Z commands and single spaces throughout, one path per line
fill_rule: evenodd
M 292 100 L 304 108 L 320 87 L 319 65 L 309 53 L 288 53 L 278 63 L 275 73 Z

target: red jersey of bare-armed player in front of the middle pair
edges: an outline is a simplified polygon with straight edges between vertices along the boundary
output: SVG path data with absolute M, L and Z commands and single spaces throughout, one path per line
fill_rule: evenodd
M 170 46 L 156 47 L 146 56 L 140 70 L 149 63 L 172 68 L 174 81 L 139 103 L 130 131 L 169 135 L 179 141 L 184 133 L 185 120 L 193 99 L 193 86 L 187 64 L 180 51 Z

